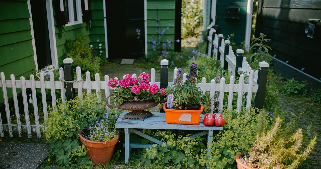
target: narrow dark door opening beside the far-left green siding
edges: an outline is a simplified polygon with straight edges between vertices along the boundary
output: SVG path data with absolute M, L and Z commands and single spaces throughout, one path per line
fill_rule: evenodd
M 30 0 L 38 68 L 52 64 L 46 1 Z

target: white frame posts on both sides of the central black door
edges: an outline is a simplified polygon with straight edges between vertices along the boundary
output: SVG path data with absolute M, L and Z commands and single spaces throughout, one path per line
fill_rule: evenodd
M 103 0 L 103 9 L 104 9 L 104 28 L 105 28 L 105 49 L 106 49 L 106 58 L 108 58 L 108 40 L 107 40 L 107 16 L 106 16 L 106 1 Z M 147 56 L 147 0 L 144 0 L 144 29 L 145 29 L 145 54 Z

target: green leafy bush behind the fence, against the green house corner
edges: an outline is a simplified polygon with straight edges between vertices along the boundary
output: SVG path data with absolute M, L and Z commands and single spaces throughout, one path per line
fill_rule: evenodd
M 82 38 L 81 34 L 77 35 L 77 39 L 67 39 L 66 57 L 73 59 L 74 71 L 79 66 L 82 72 L 89 71 L 91 79 L 95 78 L 95 73 L 100 73 L 100 57 L 92 55 L 92 46 L 86 45 L 86 38 Z

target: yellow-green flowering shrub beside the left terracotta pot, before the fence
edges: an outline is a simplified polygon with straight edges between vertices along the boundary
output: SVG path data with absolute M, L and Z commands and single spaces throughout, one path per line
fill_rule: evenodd
M 43 124 L 44 138 L 49 143 L 49 158 L 59 165 L 78 165 L 77 168 L 89 168 L 93 163 L 86 155 L 85 147 L 80 142 L 80 129 L 102 119 L 106 114 L 105 102 L 93 94 L 83 93 L 74 100 L 57 100 L 57 106 L 48 108 L 48 119 Z M 115 114 L 113 110 L 110 115 Z

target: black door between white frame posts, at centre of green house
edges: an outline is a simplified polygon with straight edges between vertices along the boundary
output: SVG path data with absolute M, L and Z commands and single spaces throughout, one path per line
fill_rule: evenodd
M 108 58 L 136 59 L 144 56 L 144 1 L 106 1 L 106 17 Z

